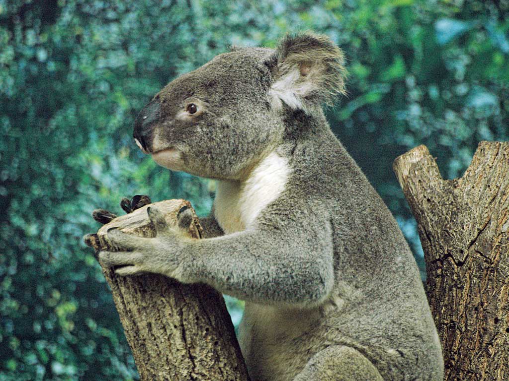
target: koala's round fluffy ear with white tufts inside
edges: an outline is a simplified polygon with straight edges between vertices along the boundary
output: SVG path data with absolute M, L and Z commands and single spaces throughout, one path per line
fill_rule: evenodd
M 306 110 L 309 102 L 332 104 L 335 96 L 346 93 L 344 62 L 343 52 L 327 36 L 287 35 L 265 62 L 273 76 L 273 107 L 284 102 Z

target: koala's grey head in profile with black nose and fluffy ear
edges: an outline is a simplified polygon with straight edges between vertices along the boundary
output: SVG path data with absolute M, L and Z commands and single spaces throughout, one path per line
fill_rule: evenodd
M 327 37 L 284 38 L 276 49 L 235 48 L 168 83 L 144 107 L 134 138 L 161 166 L 240 179 L 281 142 L 295 110 L 344 93 L 343 53 Z

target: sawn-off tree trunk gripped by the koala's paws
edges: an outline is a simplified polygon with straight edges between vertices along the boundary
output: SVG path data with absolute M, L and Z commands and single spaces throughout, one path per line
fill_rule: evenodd
M 178 211 L 191 207 L 184 200 L 150 205 L 158 207 L 173 226 Z M 154 237 L 147 207 L 104 225 L 97 234 L 99 241 L 93 242 L 95 248 L 115 249 L 105 236 L 113 227 Z M 189 235 L 199 239 L 201 234 L 194 214 Z M 102 266 L 102 270 L 142 380 L 248 379 L 230 315 L 217 291 L 205 284 L 182 284 L 157 274 L 120 277 L 110 268 Z

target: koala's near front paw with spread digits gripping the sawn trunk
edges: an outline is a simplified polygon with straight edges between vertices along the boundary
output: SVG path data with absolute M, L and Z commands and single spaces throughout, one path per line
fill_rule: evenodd
M 118 275 L 153 272 L 175 277 L 184 244 L 182 237 L 184 228 L 180 223 L 182 221 L 182 226 L 187 223 L 189 219 L 187 213 L 185 210 L 179 212 L 178 229 L 169 227 L 157 208 L 149 207 L 147 213 L 156 231 L 156 237 L 138 237 L 118 229 L 110 229 L 105 239 L 116 250 L 102 250 L 99 253 L 99 261 L 105 266 L 113 267 Z M 182 232 L 179 231 L 181 229 Z

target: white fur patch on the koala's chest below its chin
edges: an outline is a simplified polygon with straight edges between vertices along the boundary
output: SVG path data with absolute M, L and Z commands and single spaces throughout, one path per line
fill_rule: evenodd
M 225 234 L 247 229 L 285 189 L 288 160 L 270 153 L 245 181 L 218 181 L 214 215 Z

